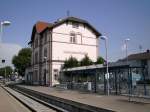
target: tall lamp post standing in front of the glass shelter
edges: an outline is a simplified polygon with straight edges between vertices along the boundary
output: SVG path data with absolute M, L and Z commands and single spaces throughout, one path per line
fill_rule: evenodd
M 107 95 L 109 96 L 109 72 L 108 72 L 108 38 L 106 36 L 100 36 L 105 41 L 106 50 L 106 77 L 107 77 Z

